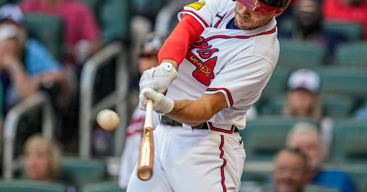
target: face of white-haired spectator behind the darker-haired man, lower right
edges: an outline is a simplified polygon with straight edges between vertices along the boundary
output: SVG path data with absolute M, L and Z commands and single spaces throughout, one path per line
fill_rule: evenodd
M 308 157 L 311 169 L 316 169 L 320 162 L 319 138 L 313 132 L 295 133 L 290 138 L 290 148 L 299 148 Z

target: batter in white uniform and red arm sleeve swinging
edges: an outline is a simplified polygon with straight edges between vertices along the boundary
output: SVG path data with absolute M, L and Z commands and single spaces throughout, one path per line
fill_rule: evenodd
M 290 0 L 202 0 L 185 6 L 163 44 L 160 65 L 140 80 L 164 114 L 154 133 L 154 167 L 127 191 L 235 192 L 246 157 L 238 131 L 277 63 L 275 17 Z M 167 89 L 168 88 L 168 89 Z

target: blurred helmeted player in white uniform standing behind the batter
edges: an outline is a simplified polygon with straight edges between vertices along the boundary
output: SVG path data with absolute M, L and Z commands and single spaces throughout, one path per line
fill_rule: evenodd
M 146 41 L 139 57 L 139 72 L 143 74 L 145 70 L 159 65 L 158 52 L 164 42 L 163 37 L 149 33 L 146 36 Z M 156 115 L 156 113 L 153 113 Z M 130 125 L 127 127 L 127 138 L 125 141 L 125 149 L 121 157 L 119 186 L 126 189 L 130 180 L 132 171 L 134 171 L 135 164 L 139 157 L 139 146 L 143 133 L 143 126 L 145 120 L 145 111 L 139 109 L 137 106 L 132 114 Z M 157 115 L 153 117 L 153 127 L 158 124 Z

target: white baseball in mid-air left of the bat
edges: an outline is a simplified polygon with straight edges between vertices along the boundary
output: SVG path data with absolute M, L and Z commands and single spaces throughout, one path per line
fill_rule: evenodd
M 98 113 L 97 123 L 103 129 L 112 131 L 120 124 L 120 117 L 112 110 L 104 109 Z

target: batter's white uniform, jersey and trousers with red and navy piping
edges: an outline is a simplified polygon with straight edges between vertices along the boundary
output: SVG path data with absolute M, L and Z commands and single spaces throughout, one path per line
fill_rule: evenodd
M 246 112 L 258 100 L 279 55 L 275 18 L 253 30 L 226 29 L 236 2 L 203 0 L 178 14 L 193 15 L 205 30 L 187 51 L 168 98 L 197 99 L 224 93 L 228 107 L 208 122 L 210 130 L 158 125 L 154 135 L 153 175 L 131 175 L 127 192 L 238 192 L 246 153 L 235 127 L 243 129 Z

